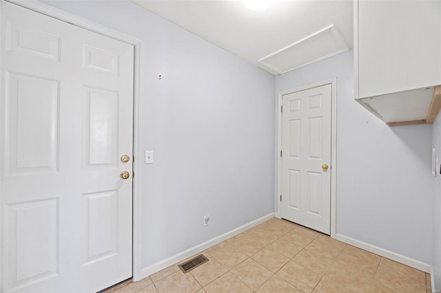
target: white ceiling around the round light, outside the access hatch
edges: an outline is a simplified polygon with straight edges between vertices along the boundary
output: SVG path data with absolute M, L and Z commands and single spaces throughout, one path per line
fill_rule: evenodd
M 259 63 L 261 58 L 329 25 L 340 32 L 347 47 L 353 47 L 351 0 L 278 0 L 263 11 L 249 10 L 242 1 L 132 1 L 272 74 L 280 72 Z M 316 42 L 316 46 L 333 45 Z M 307 54 L 298 53 L 298 56 Z M 290 58 L 293 56 L 296 54 L 290 54 Z

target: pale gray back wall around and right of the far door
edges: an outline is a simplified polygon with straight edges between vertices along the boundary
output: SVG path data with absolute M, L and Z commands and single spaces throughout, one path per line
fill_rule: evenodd
M 388 127 L 353 99 L 353 53 L 276 77 L 337 85 L 337 233 L 432 262 L 431 125 Z

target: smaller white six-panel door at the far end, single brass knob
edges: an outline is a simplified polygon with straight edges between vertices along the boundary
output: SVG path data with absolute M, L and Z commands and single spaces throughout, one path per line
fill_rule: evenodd
M 329 235 L 331 85 L 287 94 L 282 101 L 282 217 Z

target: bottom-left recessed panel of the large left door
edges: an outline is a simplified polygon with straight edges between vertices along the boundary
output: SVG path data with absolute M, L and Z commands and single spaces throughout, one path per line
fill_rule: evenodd
M 58 200 L 6 205 L 10 223 L 6 246 L 11 287 L 57 276 L 59 270 Z

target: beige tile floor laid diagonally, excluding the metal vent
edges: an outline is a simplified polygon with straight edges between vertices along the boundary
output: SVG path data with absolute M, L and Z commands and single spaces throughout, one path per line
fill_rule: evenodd
M 277 218 L 203 254 L 187 274 L 178 263 L 113 292 L 431 292 L 425 272 Z

